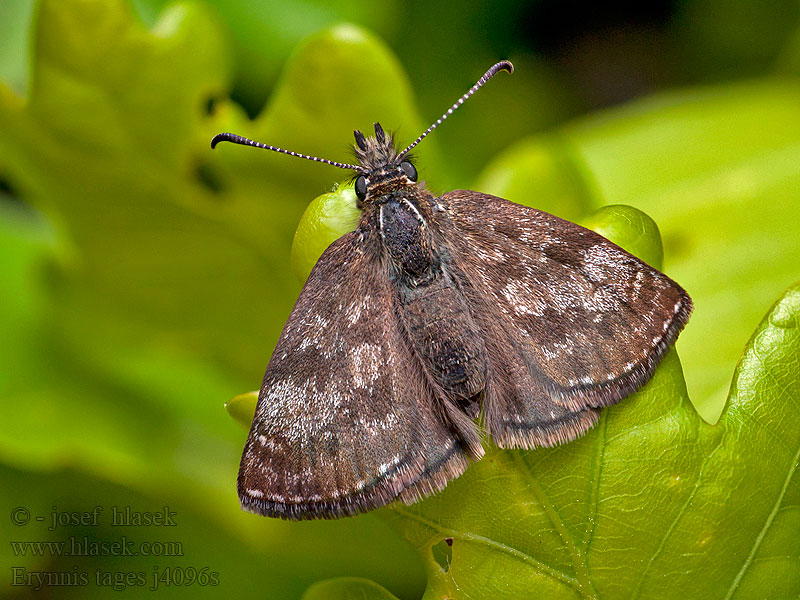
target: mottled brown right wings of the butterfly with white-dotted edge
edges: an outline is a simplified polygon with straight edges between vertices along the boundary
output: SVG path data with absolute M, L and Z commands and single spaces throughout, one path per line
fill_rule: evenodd
M 490 372 L 486 426 L 507 447 L 573 439 L 649 379 L 692 302 L 597 233 L 502 198 L 438 199 Z

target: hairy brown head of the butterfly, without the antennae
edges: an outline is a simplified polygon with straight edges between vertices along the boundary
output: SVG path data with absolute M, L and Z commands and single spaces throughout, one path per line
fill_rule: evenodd
M 387 134 L 380 123 L 375 123 L 375 137 L 366 137 L 354 132 L 356 157 L 360 163 L 357 170 L 355 190 L 359 205 L 367 197 L 383 197 L 388 193 L 414 185 L 417 169 L 394 145 L 391 134 Z

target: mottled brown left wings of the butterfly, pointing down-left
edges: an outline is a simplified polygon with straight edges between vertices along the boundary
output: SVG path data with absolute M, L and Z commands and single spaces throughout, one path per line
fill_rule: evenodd
M 352 515 L 444 487 L 468 459 L 394 314 L 368 234 L 334 242 L 306 282 L 264 377 L 239 470 L 252 512 Z

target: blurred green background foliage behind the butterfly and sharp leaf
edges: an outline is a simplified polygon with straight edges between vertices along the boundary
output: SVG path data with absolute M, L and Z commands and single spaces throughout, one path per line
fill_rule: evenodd
M 678 344 L 689 394 L 715 421 L 800 279 L 797 2 L 0 0 L 0 531 L 111 543 L 105 525 L 46 525 L 168 506 L 175 527 L 130 535 L 184 546 L 158 560 L 6 546 L 0 595 L 31 593 L 13 567 L 159 566 L 219 573 L 166 595 L 291 599 L 358 576 L 420 597 L 421 563 L 380 515 L 238 508 L 245 432 L 223 403 L 258 387 L 301 286 L 295 229 L 343 174 L 208 143 L 234 131 L 348 161 L 354 128 L 380 120 L 408 143 L 501 58 L 516 72 L 420 146 L 421 178 L 572 219 L 652 216 L 697 306 Z M 34 520 L 10 522 L 15 507 Z M 127 588 L 46 591 L 142 593 Z

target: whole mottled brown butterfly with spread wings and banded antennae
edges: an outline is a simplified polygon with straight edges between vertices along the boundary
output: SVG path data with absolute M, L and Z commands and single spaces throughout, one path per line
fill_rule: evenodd
M 689 319 L 669 277 L 602 236 L 472 191 L 434 197 L 375 124 L 358 228 L 320 257 L 283 328 L 239 470 L 242 507 L 333 518 L 444 488 L 484 454 L 568 442 L 652 375 Z M 482 419 L 479 420 L 479 418 Z M 478 423 L 482 423 L 481 425 Z

